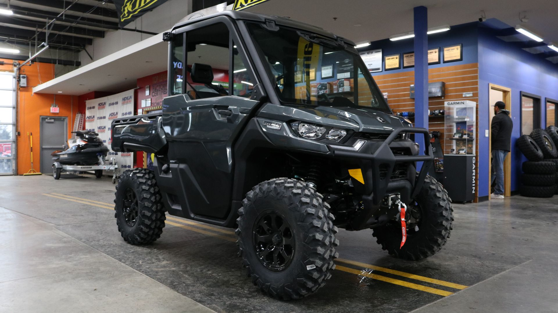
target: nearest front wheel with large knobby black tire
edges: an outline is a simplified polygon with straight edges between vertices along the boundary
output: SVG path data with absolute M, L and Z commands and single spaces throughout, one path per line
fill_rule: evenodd
M 335 218 L 329 208 L 313 187 L 294 179 L 264 181 L 246 194 L 238 210 L 238 255 L 243 259 L 248 277 L 252 277 L 254 285 L 264 294 L 282 300 L 298 299 L 317 291 L 329 280 L 335 268 L 333 259 L 338 256 L 335 247 L 339 245 L 339 240 L 335 239 L 338 229 L 333 225 Z M 292 248 L 291 261 L 284 267 L 268 269 L 275 263 L 258 256 L 265 256 L 266 249 L 271 249 L 270 245 L 256 239 L 256 236 L 263 238 L 258 235 L 262 233 L 273 235 L 268 232 L 273 229 L 269 227 L 270 220 L 266 220 L 268 215 L 275 215 L 277 223 L 282 220 L 281 225 L 285 225 L 286 221 L 290 227 L 286 234 L 279 231 L 285 242 L 279 247 L 280 251 Z M 263 220 L 263 224 L 258 220 Z M 286 242 L 294 246 L 289 247 Z M 277 249 L 275 242 L 271 247 Z M 288 256 L 288 252 L 286 254 Z M 281 260 L 285 259 L 281 256 Z

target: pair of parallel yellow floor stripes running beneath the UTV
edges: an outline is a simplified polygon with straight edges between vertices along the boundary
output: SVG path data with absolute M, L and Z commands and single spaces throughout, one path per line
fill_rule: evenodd
M 100 203 L 100 204 L 108 204 L 108 203 L 103 203 L 103 202 L 99 202 L 99 201 L 93 201 L 93 200 L 88 200 L 88 199 L 83 199 L 83 198 L 78 198 L 78 197 L 73 197 L 73 196 L 66 196 L 66 195 L 62 195 L 62 194 L 56 194 L 56 195 L 62 195 L 64 197 L 49 195 L 49 194 L 42 194 L 42 195 L 49 196 L 49 197 L 52 197 L 52 198 L 62 199 L 62 200 L 73 201 L 73 202 L 76 202 L 76 203 L 89 204 L 89 205 L 97 206 L 99 208 L 114 210 L 114 208 L 112 206 L 98 205 L 98 204 L 92 203 L 92 202 L 95 202 L 95 203 Z M 89 202 L 74 200 L 74 199 L 69 199 L 69 198 L 81 199 L 81 200 L 86 200 L 86 201 L 89 201 Z M 232 237 L 228 237 L 228 236 L 224 236 L 224 235 L 220 235 L 220 234 L 215 234 L 215 233 L 211 233 L 211 232 L 208 232 L 206 230 L 203 230 L 203 229 L 198 229 L 198 228 L 189 227 L 189 226 L 186 226 L 186 225 L 174 223 L 174 222 L 172 222 L 168 219 L 177 220 L 177 221 L 180 221 L 182 223 L 187 223 L 187 224 L 191 224 L 191 225 L 196 225 L 198 227 L 205 227 L 205 228 L 212 229 L 212 230 L 219 230 L 220 232 L 223 232 L 223 233 L 225 233 L 225 232 L 226 233 L 233 233 L 233 232 L 227 232 L 223 229 L 218 229 L 218 228 L 210 227 L 210 226 L 203 225 L 203 224 L 198 224 L 198 223 L 191 222 L 191 221 L 186 221 L 186 220 L 182 220 L 182 219 L 173 218 L 172 216 L 167 216 L 167 221 L 165 222 L 166 224 L 169 224 L 169 225 L 173 225 L 173 226 L 176 226 L 176 227 L 191 230 L 193 232 L 197 232 L 197 233 L 201 233 L 201 234 L 210 235 L 210 236 L 213 236 L 213 237 L 225 239 L 225 240 L 228 240 L 230 242 L 236 242 L 237 241 L 237 239 L 232 238 Z M 377 271 L 391 273 L 391 274 L 394 274 L 394 275 L 399 275 L 399 276 L 403 276 L 403 277 L 407 277 L 407 278 L 412 278 L 412 279 L 415 279 L 415 280 L 435 283 L 436 285 L 440 285 L 440 286 L 446 286 L 446 287 L 451 287 L 451 288 L 456 288 L 456 289 L 467 288 L 467 286 L 464 286 L 464 285 L 459 285 L 459 284 L 455 284 L 455 283 L 435 280 L 434 278 L 429 278 L 429 277 L 424 277 L 424 276 L 419 276 L 419 275 L 413 275 L 413 274 L 410 274 L 410 273 L 396 271 L 395 269 L 389 269 L 389 268 L 374 266 L 372 264 L 366 264 L 366 263 L 361 263 L 361 262 L 357 262 L 357 261 L 350 261 L 350 260 L 347 260 L 347 259 L 336 259 L 336 261 L 347 263 L 347 264 L 353 264 L 353 265 L 356 265 L 356 266 L 362 266 L 362 267 L 369 268 L 369 269 L 375 269 Z M 363 272 L 359 271 L 358 269 L 354 269 L 354 268 L 350 268 L 350 267 L 344 267 L 344 266 L 340 266 L 338 264 L 336 264 L 335 269 L 339 269 L 339 271 L 352 273 L 352 274 L 355 274 L 355 275 L 365 276 L 365 277 L 368 277 L 368 278 L 372 278 L 374 280 L 393 283 L 395 285 L 399 285 L 399 286 L 403 286 L 403 287 L 407 287 L 407 288 L 412 288 L 412 289 L 416 289 L 416 290 L 420 290 L 420 291 L 424 291 L 424 292 L 434 293 L 435 295 L 440 295 L 440 296 L 444 296 L 444 297 L 449 296 L 449 295 L 453 295 L 453 292 L 440 290 L 440 289 L 427 287 L 427 286 L 422 286 L 422 285 L 418 285 L 416 283 L 396 280 L 395 278 L 390 278 L 390 277 L 381 276 L 381 275 L 377 275 L 377 274 L 363 273 Z

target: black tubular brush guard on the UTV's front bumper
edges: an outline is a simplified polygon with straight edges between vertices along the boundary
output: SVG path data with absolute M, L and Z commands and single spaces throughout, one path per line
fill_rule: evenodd
M 424 146 L 425 155 L 417 156 L 395 156 L 389 148 L 389 145 L 399 136 L 400 133 L 421 133 L 424 134 Z M 411 199 L 415 199 L 419 194 L 422 184 L 426 175 L 430 171 L 430 168 L 434 166 L 434 152 L 432 151 L 432 146 L 430 145 L 430 137 L 428 130 L 426 128 L 417 127 L 400 127 L 393 130 L 393 132 L 387 137 L 383 142 L 374 143 L 372 148 L 372 153 L 365 152 L 352 152 L 352 151 L 341 151 L 333 150 L 334 157 L 346 157 L 346 158 L 360 158 L 363 160 L 370 160 L 372 162 L 372 203 L 378 205 L 382 201 L 383 196 L 386 194 L 386 190 L 389 184 L 389 177 L 393 172 L 393 167 L 397 162 L 424 162 L 422 164 L 421 171 L 415 179 L 415 187 L 413 188 Z M 381 179 L 380 168 L 387 169 L 386 176 Z M 364 173 L 363 173 L 364 174 Z M 370 177 L 369 175 L 365 175 Z

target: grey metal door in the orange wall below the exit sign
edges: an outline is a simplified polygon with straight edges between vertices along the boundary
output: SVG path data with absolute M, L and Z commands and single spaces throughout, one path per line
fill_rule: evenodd
M 68 140 L 66 117 L 41 116 L 41 172 L 52 172 L 52 152 L 64 150 Z M 36 157 L 36 156 L 35 156 Z

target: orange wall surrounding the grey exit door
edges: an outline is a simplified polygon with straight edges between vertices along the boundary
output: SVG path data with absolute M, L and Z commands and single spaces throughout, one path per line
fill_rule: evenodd
M 14 71 L 13 60 L 0 59 L 5 64 L 0 71 Z M 18 61 L 22 62 L 22 61 Z M 78 97 L 56 94 L 56 104 L 60 113 L 50 113 L 50 106 L 54 103 L 52 94 L 33 94 L 33 87 L 46 83 L 54 78 L 54 64 L 35 63 L 22 66 L 20 74 L 27 75 L 27 87 L 19 87 L 17 98 L 16 140 L 17 140 L 17 174 L 22 175 L 31 168 L 31 153 L 29 149 L 28 132 L 33 133 L 33 167 L 40 171 L 40 117 L 59 116 L 68 118 L 68 135 L 74 127 L 75 113 L 78 109 Z M 17 136 L 20 132 L 20 136 Z M 50 172 L 50 171 L 49 171 Z

